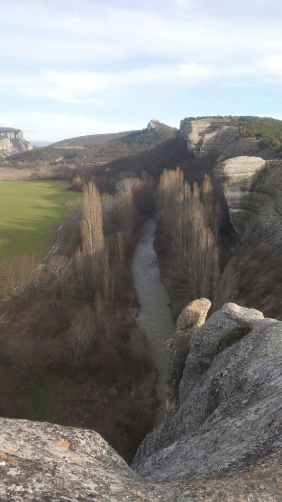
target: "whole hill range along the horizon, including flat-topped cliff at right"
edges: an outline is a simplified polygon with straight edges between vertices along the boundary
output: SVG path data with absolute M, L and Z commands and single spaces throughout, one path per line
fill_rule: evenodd
M 179 130 L 150 120 L 141 131 L 70 138 L 10 159 L 13 167 L 39 165 L 47 175 L 51 170 L 55 179 L 72 179 L 77 172 L 87 171 L 114 182 L 125 171 L 139 174 L 146 170 L 158 177 L 164 168 L 180 166 L 190 182 L 201 182 L 219 156 L 221 160 L 240 155 L 281 158 L 281 140 L 282 120 L 189 117 L 181 121 Z

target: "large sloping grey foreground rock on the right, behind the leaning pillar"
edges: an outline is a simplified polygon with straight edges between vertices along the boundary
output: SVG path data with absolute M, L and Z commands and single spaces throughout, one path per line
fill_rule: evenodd
M 282 324 L 226 304 L 190 339 L 180 408 L 145 438 L 133 467 L 162 479 L 238 472 L 268 461 L 276 471 L 281 397 Z

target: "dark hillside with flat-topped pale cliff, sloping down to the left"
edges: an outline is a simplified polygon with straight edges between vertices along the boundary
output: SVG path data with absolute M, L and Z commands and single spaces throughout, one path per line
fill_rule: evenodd
M 249 129 L 252 127 L 252 130 Z M 260 117 L 189 117 L 181 121 L 180 130 L 143 152 L 132 152 L 131 155 L 113 159 L 111 162 L 95 170 L 93 174 L 104 173 L 108 181 L 116 180 L 120 173 L 147 171 L 158 178 L 164 169 L 175 169 L 177 166 L 185 173 L 192 184 L 202 182 L 204 175 L 214 167 L 216 159 L 221 160 L 240 155 L 279 159 L 282 156 L 281 142 L 277 146 L 265 146 L 264 135 L 271 138 L 273 132 L 279 139 L 279 127 L 282 121 Z M 241 129 L 245 127 L 244 129 Z M 249 136 L 245 137 L 245 131 Z M 130 138 L 130 137 L 129 137 Z M 245 154 L 244 154 L 245 151 Z

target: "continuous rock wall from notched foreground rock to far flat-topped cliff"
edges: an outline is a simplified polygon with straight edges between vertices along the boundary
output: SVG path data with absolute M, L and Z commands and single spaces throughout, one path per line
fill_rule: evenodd
M 201 299 L 178 319 L 169 417 L 131 468 L 94 431 L 0 419 L 4 502 L 281 501 L 282 161 L 265 160 L 269 151 L 242 157 L 258 142 L 225 119 L 192 122 L 182 138 L 199 159 L 218 157 L 214 183 L 238 243 L 216 312 L 205 321 Z

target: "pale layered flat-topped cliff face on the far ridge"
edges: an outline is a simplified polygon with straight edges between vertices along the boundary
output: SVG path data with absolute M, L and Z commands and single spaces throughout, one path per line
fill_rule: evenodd
M 261 152 L 255 138 L 239 136 L 238 128 L 230 126 L 230 118 L 184 118 L 180 122 L 180 137 L 187 141 L 187 148 L 198 158 L 208 156 L 224 160 L 230 157 L 253 155 Z M 264 151 L 268 155 L 268 151 Z

